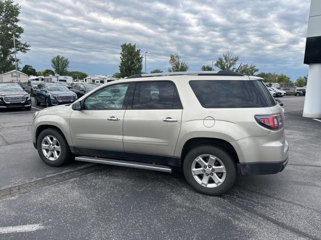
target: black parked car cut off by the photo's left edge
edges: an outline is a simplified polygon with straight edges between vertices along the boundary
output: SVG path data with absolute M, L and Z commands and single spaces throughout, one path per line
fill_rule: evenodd
M 0 108 L 21 107 L 31 110 L 31 97 L 17 83 L 0 83 Z

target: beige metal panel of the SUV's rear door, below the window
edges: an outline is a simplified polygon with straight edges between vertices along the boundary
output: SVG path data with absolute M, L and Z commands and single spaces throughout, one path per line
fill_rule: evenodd
M 125 112 L 124 150 L 127 153 L 174 156 L 183 109 L 128 109 Z M 171 117 L 177 121 L 164 121 Z

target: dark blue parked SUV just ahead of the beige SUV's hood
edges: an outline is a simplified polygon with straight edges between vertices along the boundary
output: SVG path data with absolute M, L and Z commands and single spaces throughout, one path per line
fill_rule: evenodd
M 63 84 L 43 82 L 35 91 L 36 105 L 44 103 L 46 107 L 72 103 L 77 99 L 77 94 L 70 91 Z

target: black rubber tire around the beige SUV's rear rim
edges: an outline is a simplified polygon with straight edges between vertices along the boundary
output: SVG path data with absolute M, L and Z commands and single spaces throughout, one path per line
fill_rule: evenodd
M 217 156 L 224 164 L 226 169 L 225 180 L 218 186 L 206 187 L 196 181 L 192 174 L 192 163 L 194 159 L 202 154 Z M 198 192 L 208 195 L 221 195 L 228 191 L 234 184 L 237 168 L 234 160 L 223 148 L 215 145 L 200 145 L 192 148 L 184 158 L 183 172 L 186 181 Z

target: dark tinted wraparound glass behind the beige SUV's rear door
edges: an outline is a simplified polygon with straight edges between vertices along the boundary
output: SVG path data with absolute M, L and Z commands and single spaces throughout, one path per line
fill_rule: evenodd
M 261 81 L 191 80 L 189 83 L 205 108 L 267 107 L 276 104 Z

